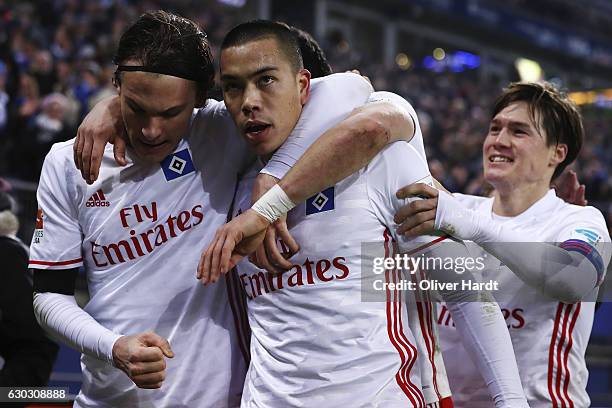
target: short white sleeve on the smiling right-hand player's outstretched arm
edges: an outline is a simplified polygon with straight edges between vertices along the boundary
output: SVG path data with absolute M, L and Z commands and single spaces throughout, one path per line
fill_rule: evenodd
M 556 240 L 559 246 L 584 255 L 597 271 L 597 284 L 601 284 L 612 257 L 612 244 L 603 215 L 593 207 L 581 207 L 564 217 L 562 223 Z

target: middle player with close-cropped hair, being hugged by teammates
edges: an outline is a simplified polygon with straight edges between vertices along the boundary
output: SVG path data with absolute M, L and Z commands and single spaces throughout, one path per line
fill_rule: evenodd
M 241 24 L 221 47 L 226 106 L 264 159 L 288 140 L 292 129 L 271 129 L 268 122 L 282 115 L 286 124 L 295 125 L 300 114 L 299 89 L 292 84 L 301 67 L 284 51 L 293 48 L 286 43 L 294 39 L 279 31 L 275 23 Z M 256 85 L 262 78 L 265 87 Z M 279 100 L 296 109 L 279 109 Z M 390 228 L 401 205 L 394 192 L 409 180 L 429 178 L 421 155 L 408 144 L 395 143 L 365 170 L 289 213 L 290 232 L 302 247 L 288 272 L 272 275 L 248 263 L 239 265 L 253 332 L 243 406 L 425 406 L 403 294 L 391 289 L 383 292 L 382 302 L 362 302 L 360 282 L 366 274 L 360 252 L 362 243 L 377 242 L 378 256 L 391 255 L 393 238 L 399 237 Z M 269 223 L 291 207 L 291 200 L 299 201 L 275 187 L 255 204 L 256 210 L 248 209 L 248 183 L 243 181 L 236 197 L 242 214 L 218 231 L 203 254 L 199 276 L 207 283 L 254 250 Z M 439 240 L 422 237 L 397 245 L 408 251 Z M 388 284 L 400 276 L 394 270 L 385 278 Z M 496 404 L 526 406 L 499 309 L 494 303 L 467 302 L 463 293 L 454 295 L 448 294 L 449 305 L 468 344 L 475 345 L 474 357 L 490 380 Z M 472 319 L 469 324 L 467 319 Z

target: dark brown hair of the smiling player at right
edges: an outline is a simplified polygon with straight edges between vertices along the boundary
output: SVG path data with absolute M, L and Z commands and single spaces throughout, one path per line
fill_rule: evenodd
M 526 102 L 529 115 L 536 126 L 546 132 L 546 144 L 567 145 L 567 156 L 559 163 L 552 179 L 554 180 L 571 164 L 584 140 L 582 115 L 576 104 L 548 82 L 514 82 L 503 90 L 495 101 L 492 118 L 516 102 Z M 538 123 L 536 118 L 540 119 Z

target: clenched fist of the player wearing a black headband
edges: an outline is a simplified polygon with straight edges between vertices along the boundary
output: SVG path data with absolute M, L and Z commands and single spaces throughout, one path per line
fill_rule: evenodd
M 120 337 L 113 345 L 113 362 L 139 388 L 160 388 L 166 360 L 174 357 L 168 340 L 153 332 Z

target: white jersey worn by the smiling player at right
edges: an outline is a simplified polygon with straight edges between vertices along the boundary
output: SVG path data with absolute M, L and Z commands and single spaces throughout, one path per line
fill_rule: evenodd
M 577 244 L 586 252 L 597 252 L 595 247 L 610 242 L 605 221 L 597 209 L 567 204 L 554 190 L 516 217 L 493 214 L 492 198 L 455 196 L 481 214 L 505 221 L 520 231 L 525 241 L 564 243 L 562 246 Z M 483 251 L 476 245 L 470 245 L 470 249 Z M 486 259 L 486 270 L 490 271 L 486 279 L 497 280 L 503 288 L 503 293 L 496 297 L 506 318 L 530 406 L 588 407 L 584 355 L 591 334 L 594 301 L 576 304 L 555 301 L 527 286 L 494 257 L 489 255 Z M 459 341 L 448 310 L 441 307 L 439 311 L 444 361 L 456 405 L 492 406 L 487 387 Z

